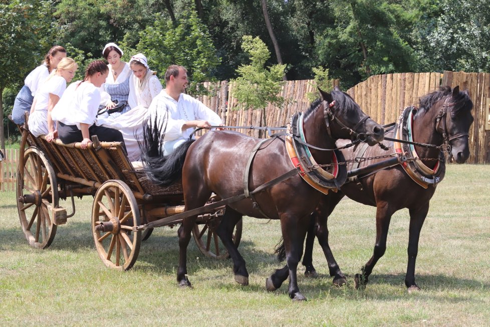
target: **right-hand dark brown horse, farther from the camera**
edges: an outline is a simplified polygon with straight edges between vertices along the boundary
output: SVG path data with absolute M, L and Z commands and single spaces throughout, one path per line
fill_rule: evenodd
M 342 285 L 346 282 L 345 275 L 335 261 L 328 244 L 326 219 L 344 195 L 347 195 L 354 201 L 376 207 L 376 242 L 374 251 L 372 257 L 362 267 L 361 273 L 355 276 L 356 288 L 368 282 L 368 277 L 373 271 L 374 265 L 386 250 L 386 238 L 391 216 L 400 209 L 408 208 L 410 226 L 405 285 L 408 291 L 419 290 L 420 288 L 415 283 L 415 260 L 418 252 L 418 241 L 420 230 L 429 210 L 429 201 L 435 192 L 437 183 L 444 176 L 445 164 L 441 151 L 447 150 L 448 154 L 458 164 L 466 161 L 469 156 L 468 131 L 473 122 L 472 107 L 473 103 L 467 91 L 459 92 L 459 87 L 457 86 L 453 90 L 449 87 L 442 87 L 439 91 L 420 98 L 419 108 L 415 108 L 415 111 L 412 111 L 412 125 L 403 128 L 405 128 L 405 132 L 409 131 L 411 133 L 414 142 L 425 143 L 424 146 L 414 145 L 414 149 L 419 156 L 418 161 L 421 161 L 430 169 L 434 169 L 436 165 L 439 165 L 438 172 L 434 173 L 433 176 L 436 180 L 433 180 L 432 184 L 429 183 L 428 187 L 424 188 L 414 182 L 401 165 L 396 165 L 374 174 L 360 175 L 357 181 L 344 184 L 341 187 L 341 192 L 323 196 L 316 211 L 312 214 L 311 229 L 308 232 L 305 256 L 303 258 L 303 264 L 306 266 L 305 274 L 316 275 L 312 263 L 313 242 L 314 235 L 316 235 L 327 258 L 330 275 L 334 276 L 334 284 Z M 393 131 L 387 133 L 385 137 L 393 137 Z M 342 144 L 342 142 L 337 142 L 337 145 Z M 427 144 L 440 146 L 430 147 Z M 390 142 L 389 146 L 392 149 L 392 153 L 394 153 L 393 142 Z M 408 145 L 405 146 L 410 149 Z M 342 152 L 346 159 L 353 159 L 360 155 L 369 158 L 386 154 L 386 152 L 374 147 L 367 148 L 364 154 L 360 154 L 358 153 L 359 151 L 352 148 L 344 149 Z M 362 166 L 368 166 L 381 160 L 383 159 L 363 161 Z M 280 253 L 281 250 L 277 252 Z M 284 272 L 281 278 L 284 278 Z M 276 282 L 279 283 L 279 281 Z

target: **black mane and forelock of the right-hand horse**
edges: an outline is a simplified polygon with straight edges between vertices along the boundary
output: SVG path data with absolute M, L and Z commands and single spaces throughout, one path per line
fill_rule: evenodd
M 426 113 L 429 109 L 435 105 L 441 99 L 452 97 L 452 90 L 449 86 L 441 86 L 439 90 L 433 91 L 419 99 L 419 113 Z M 452 106 L 451 117 L 458 115 L 461 111 L 468 111 L 473 108 L 473 102 L 471 101 L 467 92 L 459 92 L 453 99 L 455 103 L 462 103 L 459 106 Z

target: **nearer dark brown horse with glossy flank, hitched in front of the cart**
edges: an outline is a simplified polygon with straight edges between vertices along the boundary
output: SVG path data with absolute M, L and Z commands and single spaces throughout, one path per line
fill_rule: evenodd
M 334 89 L 332 93 L 320 92 L 322 98 L 315 101 L 303 115 L 307 143 L 318 148 L 333 149 L 338 138 L 356 139 L 362 134 L 361 138 L 370 145 L 383 139 L 383 127 L 366 116 L 349 95 L 338 89 Z M 154 131 L 147 132 L 145 142 L 151 143 L 148 138 L 155 139 L 154 136 Z M 156 183 L 171 183 L 182 177 L 185 211 L 188 211 L 204 206 L 211 193 L 221 199 L 234 197 L 244 193 L 244 184 L 248 184 L 246 188 L 252 191 L 294 169 L 282 136 L 265 140 L 253 158 L 249 173 L 245 173 L 250 153 L 262 141 L 264 140 L 233 131 L 210 131 L 195 142 L 189 140 L 182 144 L 169 157 L 161 158 L 153 153 L 144 156 L 143 161 L 146 162 L 147 175 Z M 151 144 L 147 145 L 152 148 Z M 319 165 L 331 164 L 334 160 L 332 150 L 318 150 L 314 147 L 310 147 L 310 150 Z M 340 152 L 338 154 L 341 155 Z M 184 156 L 180 175 L 179 165 L 175 162 L 181 161 Z M 343 160 L 343 157 L 338 160 Z M 167 165 L 167 162 L 171 164 Z M 298 288 L 296 268 L 303 253 L 309 217 L 320 201 L 321 193 L 307 184 L 299 174 L 294 173 L 289 179 L 255 194 L 254 200 L 246 198 L 229 203 L 216 232 L 233 260 L 235 280 L 247 285 L 249 273 L 245 261 L 232 242 L 232 229 L 243 215 L 280 219 L 289 267 L 289 295 L 292 299 L 304 300 L 305 297 Z M 185 218 L 178 230 L 177 281 L 180 286 L 191 285 L 186 276 L 187 245 L 196 218 Z

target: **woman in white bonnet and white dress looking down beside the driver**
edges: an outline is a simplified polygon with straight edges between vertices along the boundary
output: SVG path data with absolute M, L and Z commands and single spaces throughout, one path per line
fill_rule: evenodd
M 148 67 L 146 57 L 138 53 L 131 57 L 130 66 L 133 74 L 129 78 L 128 102 L 131 110 L 120 115 L 117 119 L 97 118 L 97 125 L 115 128 L 121 131 L 128 150 L 128 158 L 138 161 L 141 152 L 138 139 L 142 139 L 143 121 L 148 117 L 148 107 L 151 100 L 163 89 L 160 80 Z

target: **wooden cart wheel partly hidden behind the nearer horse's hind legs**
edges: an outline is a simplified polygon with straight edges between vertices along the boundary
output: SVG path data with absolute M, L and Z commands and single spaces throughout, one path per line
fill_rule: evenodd
M 192 229 L 192 235 L 194 236 L 197 247 L 206 257 L 226 259 L 229 256 L 228 251 L 215 232 L 220 222 L 221 218 L 207 218 L 201 222 L 197 222 Z M 242 225 L 243 219 L 240 219 L 236 223 L 233 232 L 233 243 L 236 246 L 240 244 Z

